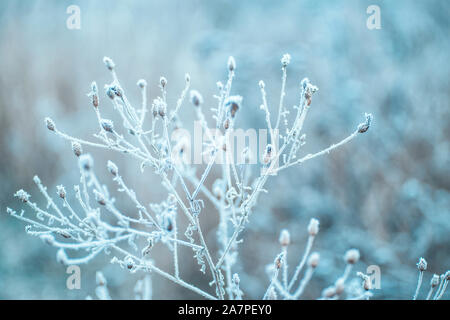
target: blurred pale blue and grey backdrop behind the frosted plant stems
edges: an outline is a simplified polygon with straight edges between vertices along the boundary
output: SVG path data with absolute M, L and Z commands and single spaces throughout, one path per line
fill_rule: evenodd
M 81 9 L 79 30 L 66 27 L 72 4 Z M 369 5 L 381 8 L 381 29 L 366 27 Z M 65 132 L 92 140 L 96 119 L 86 94 L 93 80 L 100 88 L 111 82 L 103 56 L 115 61 L 132 103 L 140 102 L 138 79 L 148 81 L 150 100 L 159 94 L 164 75 L 173 108 L 186 72 L 192 88 L 213 106 L 215 83 L 226 79 L 226 61 L 233 55 L 233 94 L 244 97 L 237 126 L 262 128 L 258 81 L 265 81 L 275 110 L 280 58 L 290 53 L 287 106 L 297 103 L 303 77 L 320 88 L 304 127 L 302 153 L 346 137 L 364 112 L 373 114 L 374 123 L 367 134 L 330 155 L 269 180 L 269 193 L 260 197 L 243 233 L 234 270 L 245 298 L 264 293 L 264 269 L 279 252 L 283 228 L 292 238 L 288 262 L 291 268 L 298 263 L 312 217 L 320 220 L 314 250 L 321 253 L 321 264 L 304 298 L 319 297 L 342 274 L 343 255 L 353 247 L 361 252 L 355 270 L 381 268 L 376 299 L 410 299 L 415 265 L 424 257 L 429 272 L 423 296 L 432 273 L 450 267 L 449 15 L 448 1 L 1 1 L 1 211 L 20 212 L 23 206 L 13 198 L 20 188 L 45 207 L 35 174 L 50 194 L 58 184 L 71 191 L 79 182 L 70 144 L 52 135 L 43 119 L 50 116 Z M 104 95 L 100 99 L 111 112 Z M 185 123 L 193 119 L 189 104 L 181 114 Z M 86 150 L 111 187 L 107 159 L 120 165 L 144 203 L 164 200 L 150 170 L 142 175 L 133 160 Z M 216 249 L 217 215 L 205 214 L 205 219 L 207 241 Z M 67 290 L 56 250 L 27 235 L 24 227 L 0 215 L 0 299 L 84 299 L 94 295 L 96 270 L 104 271 L 113 298 L 134 298 L 133 287 L 143 274 L 109 264 L 106 255 L 81 267 L 80 290 Z M 171 268 L 167 252 L 154 259 Z M 192 251 L 181 252 L 180 261 L 182 277 L 207 288 Z M 157 275 L 152 281 L 155 299 L 198 298 Z M 444 299 L 449 297 L 447 292 Z

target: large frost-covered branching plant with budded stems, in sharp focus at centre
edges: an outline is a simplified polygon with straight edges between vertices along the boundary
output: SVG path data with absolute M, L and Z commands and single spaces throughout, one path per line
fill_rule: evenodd
M 69 200 L 69 193 L 64 186 L 56 188 L 61 206 L 47 192 L 41 180 L 35 176 L 34 182 L 48 201 L 46 209 L 41 209 L 30 199 L 30 195 L 19 190 L 15 196 L 35 213 L 34 218 L 28 218 L 24 211 L 17 213 L 8 208 L 12 216 L 28 223 L 26 231 L 39 236 L 46 243 L 58 248 L 57 260 L 64 265 L 83 264 L 104 252 L 113 254 L 111 263 L 118 264 L 131 272 L 138 270 L 154 272 L 177 283 L 200 296 L 208 299 L 242 299 L 245 289 L 242 287 L 239 275 L 233 272 L 237 262 L 239 236 L 250 221 L 250 216 L 261 193 L 266 192 L 265 185 L 271 176 L 287 168 L 300 165 L 305 161 L 328 154 L 332 150 L 351 141 L 359 134 L 366 132 L 372 122 L 372 115 L 366 114 L 363 123 L 345 139 L 321 151 L 298 157 L 305 144 L 306 136 L 302 133 L 303 124 L 311 109 L 313 95 L 318 88 L 309 79 L 300 82 L 300 99 L 297 106 L 291 110 L 285 106 L 285 86 L 287 66 L 290 56 L 281 59 L 282 85 L 277 116 L 272 122 L 270 108 L 266 99 L 265 84 L 259 82 L 262 96 L 261 109 L 265 113 L 265 122 L 270 134 L 270 143 L 265 147 L 262 156 L 261 170 L 255 174 L 249 164 L 236 165 L 231 160 L 230 135 L 235 126 L 235 119 L 242 110 L 243 98 L 232 95 L 232 83 L 236 71 L 233 57 L 228 60 L 228 79 L 225 84 L 217 83 L 217 107 L 211 108 L 214 113 L 215 129 L 224 130 L 224 135 L 211 133 L 202 108 L 204 99 L 196 90 L 190 90 L 190 76 L 185 76 L 185 86 L 173 108 L 169 108 L 166 96 L 168 81 L 161 77 L 159 88 L 161 95 L 153 100 L 151 108 L 147 103 L 147 82 L 139 80 L 138 87 L 142 93 L 142 105 L 136 108 L 127 99 L 125 91 L 116 75 L 114 62 L 105 57 L 104 63 L 111 72 L 113 81 L 105 85 L 105 94 L 115 111 L 122 119 L 119 129 L 113 121 L 102 117 L 100 109 L 100 94 L 97 84 L 91 84 L 89 97 L 98 121 L 99 132 L 94 134 L 97 141 L 87 141 L 72 137 L 61 131 L 50 118 L 45 119 L 48 130 L 71 143 L 73 153 L 78 158 L 80 183 L 74 186 L 75 198 L 79 204 L 74 208 Z M 189 91 L 190 90 L 190 91 Z M 201 175 L 197 175 L 193 165 L 184 161 L 186 140 L 182 135 L 171 133 L 182 126 L 179 110 L 186 97 L 190 97 L 195 114 L 207 133 L 207 153 L 209 161 Z M 242 111 L 241 111 L 242 110 Z M 294 117 L 288 117 L 293 112 Z M 150 117 L 150 121 L 148 121 Z M 276 140 L 279 133 L 280 143 Z M 135 192 L 128 186 L 121 175 L 120 168 L 108 161 L 106 167 L 116 183 L 118 191 L 123 192 L 133 202 L 136 212 L 124 213 L 115 205 L 115 199 L 110 196 L 108 188 L 97 178 L 94 170 L 94 159 L 84 153 L 83 147 L 102 148 L 125 154 L 140 165 L 142 171 L 151 168 L 161 179 L 161 186 L 167 190 L 167 197 L 160 203 L 145 204 L 138 199 Z M 249 150 L 243 152 L 243 157 L 249 155 Z M 208 179 L 213 165 L 218 157 L 222 157 L 222 177 L 212 183 L 209 190 L 205 181 Z M 204 201 L 209 201 L 220 217 L 217 231 L 217 242 L 220 250 L 211 252 L 205 240 L 200 223 Z M 187 219 L 187 226 L 179 224 L 179 215 Z M 311 253 L 314 238 L 319 231 L 319 222 L 312 219 L 308 228 L 309 238 L 305 252 L 289 277 L 287 265 L 290 234 L 287 230 L 281 232 L 279 241 L 281 253 L 274 263 L 267 268 L 269 275 L 267 290 L 261 294 L 263 299 L 298 299 L 303 294 L 314 270 L 319 264 L 319 254 Z M 181 232 L 182 233 L 181 233 Z M 152 256 L 152 248 L 157 244 L 165 245 L 173 256 L 173 270 L 165 271 L 156 264 L 157 257 Z M 200 271 L 209 273 L 214 293 L 207 292 L 197 286 L 187 283 L 180 275 L 178 259 L 179 246 L 192 250 L 194 260 L 200 266 Z M 67 252 L 83 251 L 82 257 L 73 257 Z M 72 257 L 71 257 L 72 256 Z M 337 299 L 345 297 L 352 299 L 368 298 L 370 294 L 369 277 L 359 274 L 363 279 L 358 290 L 345 290 L 345 283 L 351 275 L 353 265 L 359 259 L 359 251 L 349 250 L 345 254 L 347 266 L 343 275 L 336 283 L 326 288 L 321 299 Z M 306 271 L 299 276 L 306 266 Z M 281 279 L 279 279 L 281 278 Z M 150 298 L 150 280 L 141 280 L 136 286 L 136 296 Z M 97 273 L 96 295 L 101 299 L 110 298 L 106 280 L 102 273 Z

